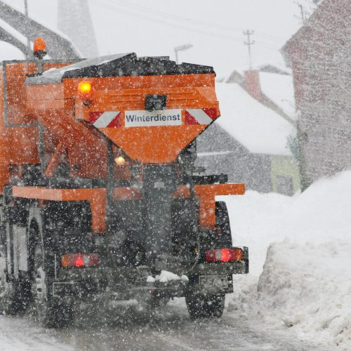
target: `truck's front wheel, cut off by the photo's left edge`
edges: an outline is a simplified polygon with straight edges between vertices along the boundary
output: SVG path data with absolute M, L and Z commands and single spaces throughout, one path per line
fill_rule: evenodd
M 6 282 L 6 248 L 0 246 L 0 312 L 3 314 L 20 314 L 25 312 L 29 291 L 27 282 L 20 282 L 19 279 L 13 282 Z

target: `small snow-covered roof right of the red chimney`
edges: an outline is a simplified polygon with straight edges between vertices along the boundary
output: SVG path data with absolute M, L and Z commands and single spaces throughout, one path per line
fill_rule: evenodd
M 291 75 L 260 72 L 260 86 L 267 98 L 270 98 L 289 117 L 296 119 Z

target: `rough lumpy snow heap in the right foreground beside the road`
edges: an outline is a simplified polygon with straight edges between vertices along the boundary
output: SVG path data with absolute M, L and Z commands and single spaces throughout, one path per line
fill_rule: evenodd
M 258 298 L 273 312 L 264 318 L 281 319 L 300 337 L 351 350 L 350 252 L 347 241 L 272 244 L 258 281 Z

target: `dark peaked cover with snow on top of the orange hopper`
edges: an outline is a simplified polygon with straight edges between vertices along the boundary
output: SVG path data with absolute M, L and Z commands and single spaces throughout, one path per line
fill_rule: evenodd
M 53 84 L 65 78 L 83 77 L 125 77 L 161 74 L 201 74 L 215 73 L 213 67 L 181 63 L 167 57 L 137 57 L 135 53 L 120 53 L 100 58 L 81 60 L 67 67 L 51 68 L 41 76 L 29 77 L 27 84 Z

